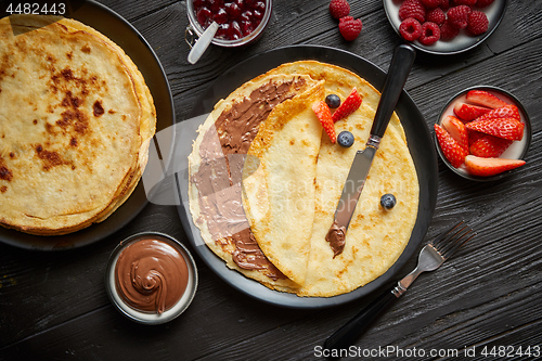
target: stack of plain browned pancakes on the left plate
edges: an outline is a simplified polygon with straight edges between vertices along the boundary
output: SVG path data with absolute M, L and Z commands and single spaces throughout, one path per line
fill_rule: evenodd
M 77 21 L 0 20 L 0 224 L 39 235 L 103 221 L 131 194 L 156 127 L 133 62 Z

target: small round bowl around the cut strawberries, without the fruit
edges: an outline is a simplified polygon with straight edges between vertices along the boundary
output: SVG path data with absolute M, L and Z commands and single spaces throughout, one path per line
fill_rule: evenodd
M 527 114 L 527 111 L 525 109 L 524 105 L 521 102 L 514 96 L 512 93 L 508 91 L 498 88 L 498 87 L 492 87 L 492 86 L 476 86 L 476 87 L 470 87 L 465 90 L 462 90 L 457 94 L 453 95 L 452 99 L 448 101 L 448 103 L 444 105 L 442 111 L 440 112 L 439 118 L 437 124 L 441 125 L 442 119 L 444 119 L 446 116 L 448 115 L 454 115 L 453 113 L 453 106 L 455 105 L 455 102 L 465 102 L 466 94 L 470 90 L 485 90 L 490 92 L 491 94 L 495 95 L 496 98 L 503 100 L 504 102 L 508 104 L 516 105 L 517 108 L 519 109 L 519 115 L 521 117 L 521 123 L 525 124 L 524 128 L 524 138 L 520 141 L 514 141 L 508 149 L 501 154 L 500 158 L 507 158 L 507 159 L 524 159 L 525 156 L 527 155 L 527 151 L 529 150 L 529 146 L 531 144 L 531 138 L 532 138 L 532 129 L 531 129 L 531 120 L 529 118 L 529 115 Z M 448 162 L 444 154 L 442 153 L 442 150 L 440 149 L 440 144 L 437 140 L 437 136 L 434 134 L 435 137 L 435 144 L 437 146 L 437 152 L 442 159 L 442 162 L 456 175 L 468 179 L 473 181 L 481 181 L 481 182 L 487 182 L 487 181 L 494 181 L 499 180 L 503 177 L 508 176 L 511 172 L 514 171 L 514 169 L 506 170 L 502 173 L 494 175 L 491 177 L 479 177 L 479 176 L 473 176 L 469 175 L 468 171 L 465 168 L 465 165 L 460 166 L 459 168 L 455 168 Z

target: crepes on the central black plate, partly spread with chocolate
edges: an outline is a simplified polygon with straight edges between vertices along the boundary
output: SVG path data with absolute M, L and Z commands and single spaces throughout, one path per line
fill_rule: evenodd
M 238 115 L 250 107 L 237 104 L 250 103 L 255 99 L 253 94 L 262 87 L 291 83 L 299 77 L 308 79 L 292 96 L 280 101 L 274 100 L 273 94 L 267 98 L 273 103 L 269 114 Z M 322 131 L 311 106 L 331 93 L 345 100 L 354 87 L 363 98 L 362 105 L 337 121 L 335 129 L 337 133 L 350 131 L 356 142 L 351 147 L 341 147 Z M 420 192 L 404 130 L 396 114 L 353 212 L 344 252 L 334 257 L 325 241 L 354 154 L 365 147 L 378 101 L 379 93 L 364 79 L 338 66 L 314 61 L 279 66 L 220 101 L 201 127 L 189 157 L 191 212 L 206 244 L 230 268 L 270 288 L 298 296 L 340 295 L 386 272 L 410 240 Z M 223 159 L 228 169 L 238 168 L 231 167 L 231 137 L 218 124 L 223 124 L 223 118 L 234 123 L 255 116 L 261 119 L 254 123 L 257 124 L 255 136 L 245 139 L 249 147 L 241 166 L 241 179 L 231 177 L 230 171 L 229 188 L 224 186 L 227 183 L 205 188 L 198 176 L 204 167 L 212 170 L 206 156 L 210 153 L 209 144 L 215 147 L 214 162 Z M 243 123 L 240 126 L 244 126 Z M 218 141 L 209 141 L 212 137 Z M 243 153 L 243 147 L 238 147 L 238 153 Z M 205 175 L 212 183 L 219 172 Z M 397 205 L 390 210 L 379 205 L 386 193 L 397 198 Z M 219 202 L 225 198 L 228 203 Z M 237 227 L 229 229 L 232 215 L 229 210 L 233 206 L 240 208 L 234 212 Z M 240 241 L 243 232 L 249 235 L 244 236 L 245 240 L 255 241 L 257 249 L 245 249 L 248 241 Z M 243 252 L 246 255 L 240 262 L 237 256 Z M 264 257 L 269 263 L 256 262 L 258 257 Z

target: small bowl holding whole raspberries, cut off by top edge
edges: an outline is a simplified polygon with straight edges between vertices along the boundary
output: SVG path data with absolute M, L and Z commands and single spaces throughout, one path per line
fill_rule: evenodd
M 399 18 L 399 7 L 402 1 L 400 0 L 384 0 L 384 9 L 386 10 L 386 15 L 388 16 L 389 23 L 399 34 L 399 25 L 401 25 L 401 20 Z M 506 10 L 506 0 L 495 0 L 491 5 L 488 5 L 482 9 L 474 8 L 475 10 L 480 10 L 486 13 L 489 21 L 488 31 L 480 36 L 469 36 L 465 29 L 461 30 L 460 35 L 457 35 L 451 41 L 437 41 L 431 46 L 424 46 L 420 41 L 415 40 L 410 42 L 414 48 L 425 51 L 431 54 L 440 54 L 440 55 L 451 55 L 462 53 L 464 51 L 470 50 L 473 48 L 478 47 L 499 26 L 501 20 L 504 16 L 504 11 Z M 402 39 L 402 37 L 401 37 Z

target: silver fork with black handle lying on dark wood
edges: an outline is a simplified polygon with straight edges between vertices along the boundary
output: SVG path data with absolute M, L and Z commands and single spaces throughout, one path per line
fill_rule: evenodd
M 431 243 L 422 248 L 417 259 L 417 266 L 411 273 L 399 281 L 397 286 L 382 294 L 343 327 L 327 337 L 324 343 L 324 348 L 332 350 L 344 349 L 351 346 L 369 327 L 371 321 L 389 306 L 391 301 L 401 297 L 422 272 L 435 271 L 438 269 L 463 244 L 465 244 L 465 242 L 469 241 L 476 234 L 468 225 L 460 221 L 450 230 L 437 236 Z

